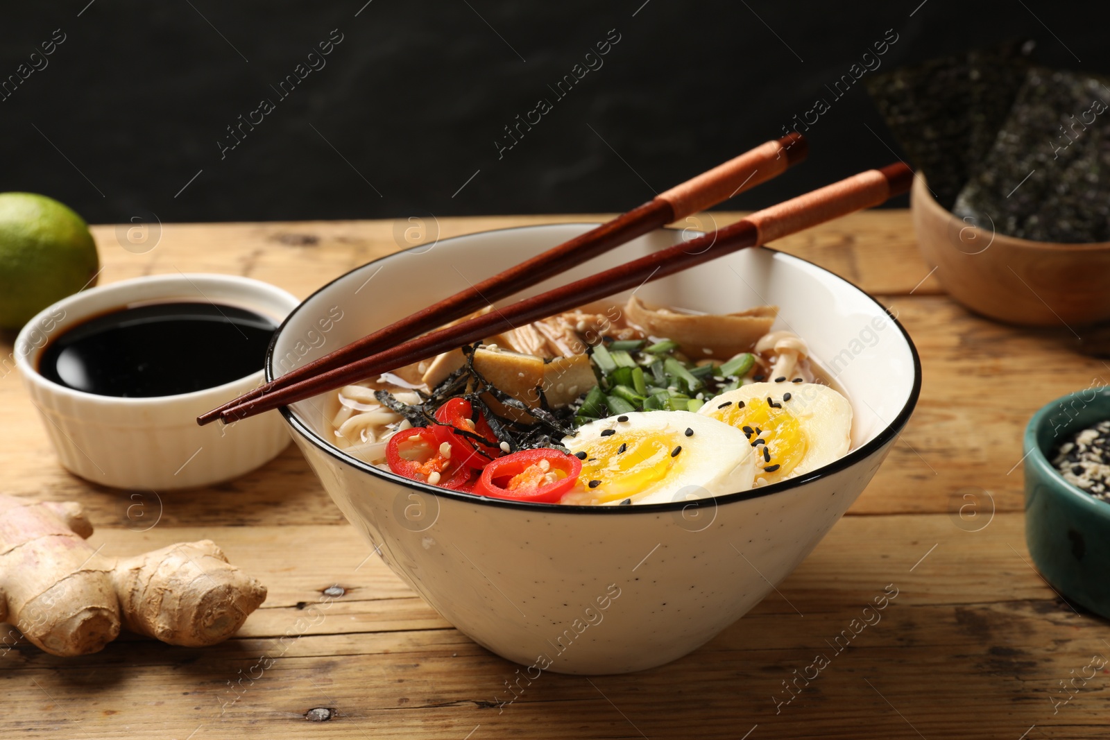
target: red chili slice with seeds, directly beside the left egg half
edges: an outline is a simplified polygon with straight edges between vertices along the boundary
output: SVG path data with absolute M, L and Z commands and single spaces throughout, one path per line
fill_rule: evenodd
M 554 504 L 574 488 L 582 460 L 558 449 L 522 449 L 482 470 L 474 493 L 515 501 Z

